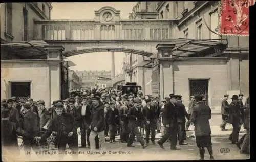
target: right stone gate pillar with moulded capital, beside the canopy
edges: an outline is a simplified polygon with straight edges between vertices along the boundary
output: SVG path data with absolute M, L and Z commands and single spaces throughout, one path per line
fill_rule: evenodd
M 169 94 L 174 93 L 173 78 L 173 57 L 172 49 L 174 44 L 158 44 L 156 49 L 159 55 L 160 65 L 160 97 L 163 99 Z

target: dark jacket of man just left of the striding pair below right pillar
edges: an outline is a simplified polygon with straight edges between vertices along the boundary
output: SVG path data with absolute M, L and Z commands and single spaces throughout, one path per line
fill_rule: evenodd
M 150 121 L 150 124 L 145 123 L 146 127 L 149 126 L 152 129 L 157 129 L 157 107 L 156 106 L 150 106 L 150 108 L 146 106 L 143 107 L 143 116 L 144 121 Z

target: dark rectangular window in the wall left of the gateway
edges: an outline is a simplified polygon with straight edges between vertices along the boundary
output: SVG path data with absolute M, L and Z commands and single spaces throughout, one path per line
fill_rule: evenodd
M 11 96 L 15 96 L 17 100 L 30 98 L 31 82 L 11 82 Z

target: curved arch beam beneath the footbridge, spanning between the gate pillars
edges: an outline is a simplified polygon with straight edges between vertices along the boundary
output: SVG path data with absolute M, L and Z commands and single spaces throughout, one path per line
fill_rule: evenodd
M 123 47 L 90 47 L 90 48 L 85 48 L 81 50 L 73 50 L 73 51 L 67 51 L 63 52 L 63 56 L 65 57 L 70 57 L 70 56 L 75 56 L 79 54 L 84 54 L 84 53 L 93 53 L 93 52 L 125 52 L 125 53 L 133 53 L 133 54 L 138 54 L 138 55 L 143 55 L 143 56 L 151 56 L 153 53 L 143 51 L 143 50 L 137 50 L 137 49 L 131 49 L 131 48 L 123 48 Z

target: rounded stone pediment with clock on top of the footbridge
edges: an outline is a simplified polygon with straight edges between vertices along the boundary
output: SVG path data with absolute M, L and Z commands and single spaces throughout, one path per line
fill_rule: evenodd
M 110 6 L 102 7 L 101 9 L 94 11 L 96 22 L 101 23 L 113 23 L 121 20 L 120 11 Z

